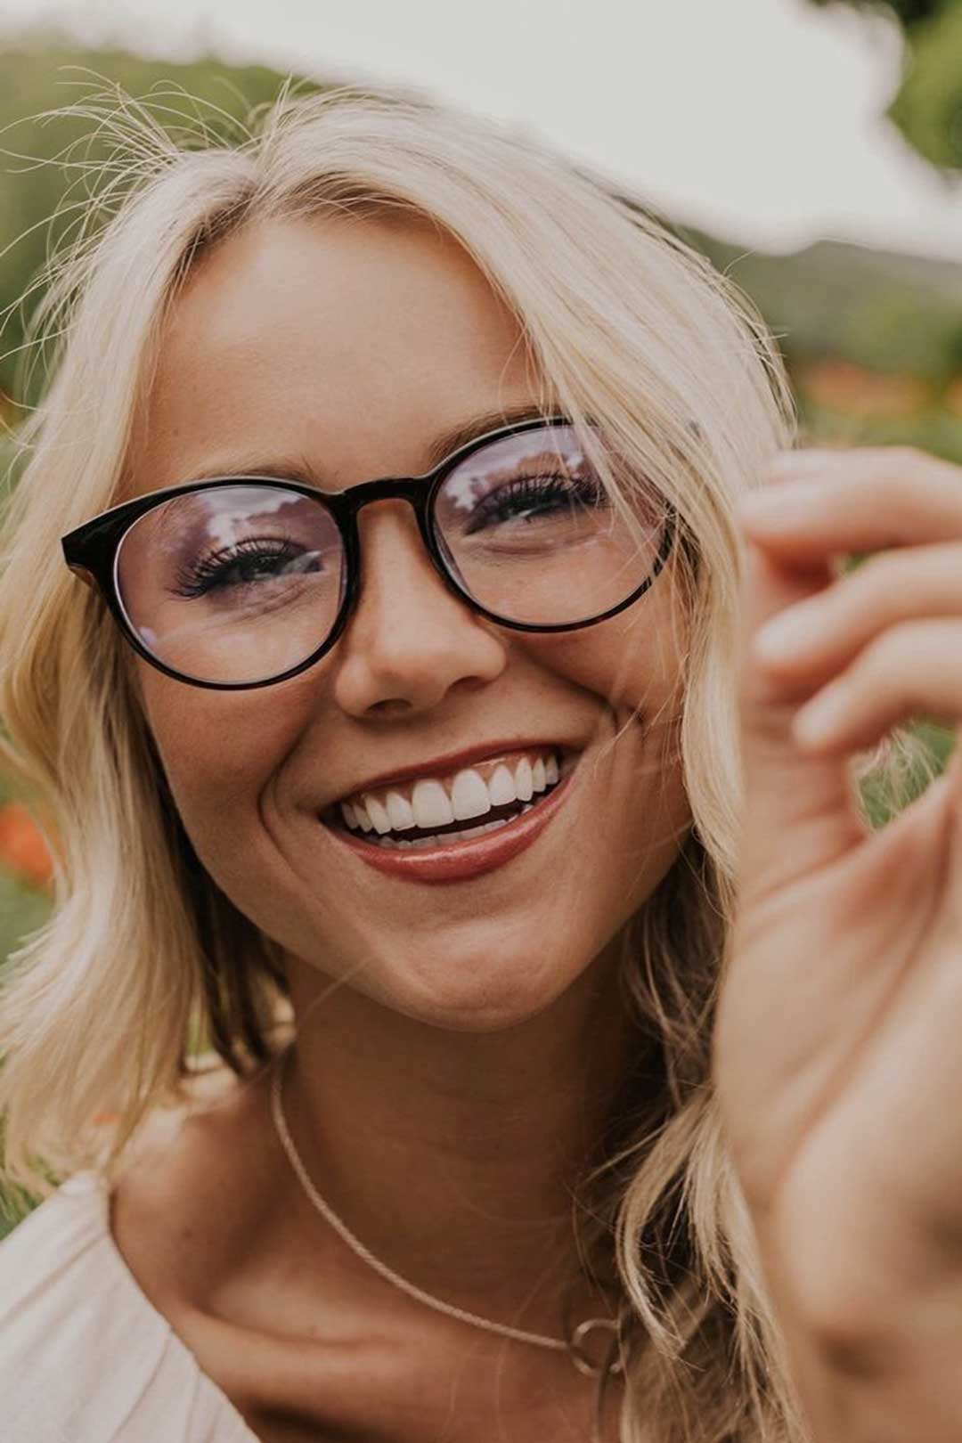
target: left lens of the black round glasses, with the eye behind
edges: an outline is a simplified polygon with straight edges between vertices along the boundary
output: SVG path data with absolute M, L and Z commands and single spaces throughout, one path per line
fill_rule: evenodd
M 262 483 L 173 496 L 130 528 L 117 590 L 143 645 L 198 681 L 283 675 L 330 633 L 345 589 L 320 501 Z

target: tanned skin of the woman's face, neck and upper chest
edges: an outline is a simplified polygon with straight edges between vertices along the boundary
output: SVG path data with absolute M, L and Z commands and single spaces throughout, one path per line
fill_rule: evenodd
M 262 224 L 172 309 L 131 492 L 254 460 L 330 489 L 418 475 L 440 434 L 539 392 L 516 322 L 434 229 Z M 366 508 L 361 544 L 359 609 L 313 668 L 216 693 L 137 661 L 140 696 L 199 859 L 284 948 L 284 1110 L 310 1176 L 402 1276 L 558 1336 L 562 1294 L 575 1320 L 606 1310 L 570 1189 L 635 1046 L 613 944 L 691 823 L 674 571 L 622 616 L 539 636 L 446 592 L 405 502 Z M 552 824 L 492 873 L 384 876 L 319 824 L 366 778 L 512 737 L 581 760 Z M 433 1313 L 345 1248 L 280 1150 L 265 1076 L 141 1153 L 112 1227 L 262 1439 L 590 1436 L 594 1382 L 564 1355 Z

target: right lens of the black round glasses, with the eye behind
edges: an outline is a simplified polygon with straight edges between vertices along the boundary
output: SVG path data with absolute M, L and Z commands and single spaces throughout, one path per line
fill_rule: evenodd
M 531 626 L 601 616 L 658 567 L 665 508 L 627 479 L 626 515 L 571 426 L 506 436 L 467 456 L 434 506 L 441 548 L 487 610 Z

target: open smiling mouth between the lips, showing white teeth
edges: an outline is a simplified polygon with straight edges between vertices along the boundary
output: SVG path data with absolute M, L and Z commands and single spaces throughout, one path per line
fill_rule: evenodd
M 329 807 L 322 821 L 379 851 L 454 847 L 511 827 L 541 807 L 574 771 L 578 755 L 535 747 L 453 776 L 353 794 Z

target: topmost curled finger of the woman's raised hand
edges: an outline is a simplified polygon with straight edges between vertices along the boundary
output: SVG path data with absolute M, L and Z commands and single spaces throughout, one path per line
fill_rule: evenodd
M 803 479 L 773 463 L 773 483 L 738 499 L 746 534 L 809 566 L 839 551 L 962 540 L 961 466 L 883 446 L 839 452 L 818 469 L 821 479 Z

